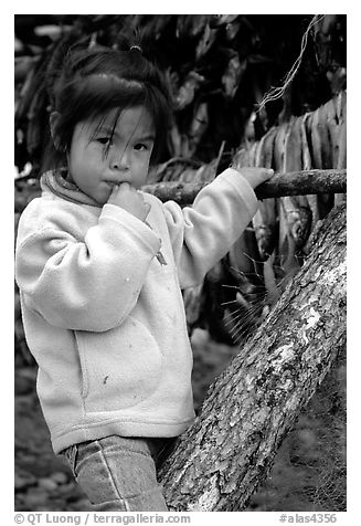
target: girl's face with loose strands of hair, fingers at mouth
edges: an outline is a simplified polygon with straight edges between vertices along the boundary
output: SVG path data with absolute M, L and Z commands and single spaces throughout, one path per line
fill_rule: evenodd
M 116 112 L 109 112 L 98 129 L 98 123 L 78 123 L 67 156 L 71 180 L 100 206 L 114 185 L 128 182 L 137 190 L 145 185 L 155 144 L 152 119 L 144 106 L 124 109 L 113 133 Z

